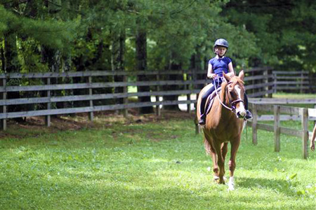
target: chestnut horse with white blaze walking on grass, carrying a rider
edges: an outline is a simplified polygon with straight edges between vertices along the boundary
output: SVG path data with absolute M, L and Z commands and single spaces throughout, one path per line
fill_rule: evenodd
M 204 132 L 204 147 L 213 160 L 214 179 L 218 183 L 225 183 L 225 157 L 228 153 L 228 142 L 230 142 L 228 189 L 234 190 L 235 160 L 244 128 L 244 116 L 246 115 L 244 108 L 244 71 L 241 71 L 239 76 L 231 78 L 225 73 L 223 74 L 225 80 L 221 84 L 221 90 L 214 99 L 211 111 L 206 116 L 206 124 L 202 129 Z M 199 106 L 206 87 L 201 90 L 197 99 L 198 119 L 200 117 Z

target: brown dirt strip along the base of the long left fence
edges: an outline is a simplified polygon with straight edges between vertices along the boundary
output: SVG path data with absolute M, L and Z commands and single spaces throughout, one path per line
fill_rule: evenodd
M 154 123 L 162 120 L 184 120 L 195 118 L 195 113 L 183 111 L 162 111 L 161 116 L 156 114 L 138 115 L 136 111 L 130 111 L 129 116 L 124 118 L 117 111 L 103 111 L 93 113 L 95 120 L 88 120 L 88 113 L 79 113 L 76 116 L 51 116 L 51 126 L 46 127 L 45 117 L 25 118 L 22 122 L 16 122 L 14 119 L 7 121 L 7 130 L 0 131 L 0 139 L 36 137 L 41 133 L 55 133 L 65 130 L 82 130 L 86 128 L 104 128 L 111 127 L 113 124 L 120 123 L 129 125 L 134 123 Z

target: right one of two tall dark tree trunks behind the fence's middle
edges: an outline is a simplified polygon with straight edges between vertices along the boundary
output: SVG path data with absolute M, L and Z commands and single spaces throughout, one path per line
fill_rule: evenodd
M 143 29 L 138 29 L 136 32 L 136 71 L 146 71 L 147 70 L 147 34 Z M 147 77 L 144 75 L 138 75 L 138 81 L 146 81 Z M 139 86 L 137 87 L 138 92 L 150 92 L 149 86 Z M 150 96 L 148 97 L 138 97 L 139 102 L 151 102 Z M 140 107 L 140 113 L 153 113 L 154 109 L 152 106 Z

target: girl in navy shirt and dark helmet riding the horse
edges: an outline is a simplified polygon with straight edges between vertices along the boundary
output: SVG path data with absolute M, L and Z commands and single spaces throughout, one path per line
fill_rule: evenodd
M 229 57 L 225 57 L 228 50 L 228 41 L 223 38 L 216 40 L 213 46 L 213 52 L 216 57 L 209 60 L 209 69 L 207 71 L 207 77 L 213 78 L 216 87 L 218 87 L 223 81 L 223 71 L 228 76 L 235 76 L 234 69 L 232 67 L 232 60 Z M 201 117 L 199 119 L 199 125 L 205 125 L 206 113 L 205 113 L 205 103 L 207 97 L 215 90 L 214 85 L 210 85 L 209 90 L 207 90 L 204 95 L 202 95 L 202 102 L 200 107 Z M 252 118 L 251 112 L 248 110 L 248 99 L 246 94 L 244 94 L 244 102 L 246 109 L 246 119 Z

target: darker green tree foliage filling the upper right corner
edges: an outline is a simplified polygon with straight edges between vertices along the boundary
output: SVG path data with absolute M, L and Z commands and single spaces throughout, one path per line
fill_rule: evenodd
M 315 20 L 312 1 L 230 1 L 223 15 L 254 34 L 258 55 L 252 63 L 276 69 L 316 71 Z

